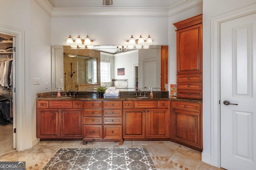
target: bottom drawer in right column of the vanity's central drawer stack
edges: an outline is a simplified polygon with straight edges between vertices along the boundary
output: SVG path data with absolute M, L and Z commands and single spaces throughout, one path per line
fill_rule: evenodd
M 104 125 L 103 139 L 122 139 L 122 125 Z

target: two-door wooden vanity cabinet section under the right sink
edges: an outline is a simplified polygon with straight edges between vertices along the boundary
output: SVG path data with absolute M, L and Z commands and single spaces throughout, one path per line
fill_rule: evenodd
M 134 101 L 134 108 L 123 109 L 123 138 L 168 139 L 168 108 L 168 100 Z

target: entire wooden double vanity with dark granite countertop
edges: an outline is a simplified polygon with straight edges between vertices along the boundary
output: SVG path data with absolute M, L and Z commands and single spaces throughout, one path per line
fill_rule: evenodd
M 202 151 L 202 100 L 175 99 L 168 92 L 153 98 L 120 92 L 99 97 L 96 92 L 38 93 L 37 137 L 45 140 L 173 141 Z

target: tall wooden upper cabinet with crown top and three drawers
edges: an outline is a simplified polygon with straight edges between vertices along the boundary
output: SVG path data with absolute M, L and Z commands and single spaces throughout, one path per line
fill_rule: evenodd
M 177 98 L 202 99 L 202 14 L 173 25 L 177 28 Z

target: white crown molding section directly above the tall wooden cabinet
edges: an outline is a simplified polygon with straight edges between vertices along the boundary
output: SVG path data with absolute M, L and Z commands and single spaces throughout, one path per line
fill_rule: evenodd
M 169 15 L 168 17 L 174 16 L 196 6 L 200 6 L 203 4 L 203 0 L 184 0 L 174 6 L 169 8 Z

